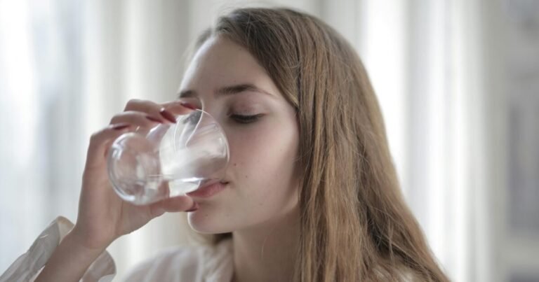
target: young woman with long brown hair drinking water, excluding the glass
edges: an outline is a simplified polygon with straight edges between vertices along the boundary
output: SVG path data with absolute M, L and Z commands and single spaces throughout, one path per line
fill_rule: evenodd
M 315 17 L 242 8 L 197 42 L 167 104 L 129 101 L 91 138 L 76 224 L 37 281 L 110 279 L 105 248 L 166 211 L 215 234 L 133 269 L 128 281 L 448 281 L 406 206 L 357 53 Z M 189 108 L 227 134 L 226 178 L 149 206 L 109 185 L 110 143 Z

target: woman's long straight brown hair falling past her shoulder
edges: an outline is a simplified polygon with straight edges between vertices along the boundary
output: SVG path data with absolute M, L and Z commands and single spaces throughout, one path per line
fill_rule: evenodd
M 345 38 L 287 8 L 234 10 L 197 45 L 209 36 L 247 48 L 298 113 L 295 280 L 448 281 L 401 195 L 378 101 Z

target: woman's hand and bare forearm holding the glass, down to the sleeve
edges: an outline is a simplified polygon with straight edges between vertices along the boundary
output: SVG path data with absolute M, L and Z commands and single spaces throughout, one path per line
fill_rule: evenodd
M 76 224 L 55 248 L 36 281 L 79 281 L 91 263 L 121 235 L 137 230 L 165 211 L 189 211 L 196 207 L 187 196 L 147 206 L 129 204 L 112 190 L 107 174 L 107 153 L 117 137 L 137 127 L 149 129 L 159 122 L 175 122 L 174 114 L 188 111 L 180 101 L 159 105 L 131 100 L 123 113 L 114 115 L 108 127 L 92 135 Z

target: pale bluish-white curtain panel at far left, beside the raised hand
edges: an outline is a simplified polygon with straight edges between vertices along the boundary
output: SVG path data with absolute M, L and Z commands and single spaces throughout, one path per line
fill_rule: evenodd
M 86 146 L 81 10 L 0 1 L 0 271 L 54 216 L 75 218 Z

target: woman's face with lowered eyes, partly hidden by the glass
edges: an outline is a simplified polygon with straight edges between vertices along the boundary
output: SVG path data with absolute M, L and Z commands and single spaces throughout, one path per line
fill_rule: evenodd
M 233 232 L 293 211 L 298 205 L 295 110 L 256 59 L 227 38 L 208 39 L 185 73 L 180 98 L 218 120 L 230 150 L 228 184 L 210 197 L 193 197 L 199 209 L 189 213 L 189 225 L 203 233 Z

